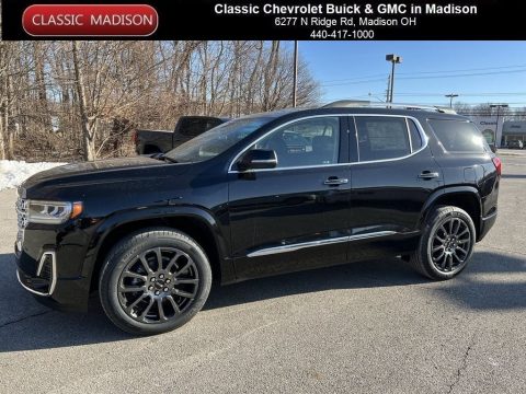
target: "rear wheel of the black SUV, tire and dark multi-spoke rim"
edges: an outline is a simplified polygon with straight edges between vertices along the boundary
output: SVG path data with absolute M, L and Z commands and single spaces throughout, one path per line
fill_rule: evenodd
M 410 255 L 409 263 L 430 279 L 451 279 L 466 268 L 474 243 L 471 217 L 458 207 L 439 206 L 427 216 L 418 250 Z

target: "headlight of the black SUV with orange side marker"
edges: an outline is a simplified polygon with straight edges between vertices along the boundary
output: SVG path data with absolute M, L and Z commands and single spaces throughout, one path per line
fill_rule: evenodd
M 82 202 L 30 200 L 27 221 L 30 223 L 61 224 L 82 213 Z

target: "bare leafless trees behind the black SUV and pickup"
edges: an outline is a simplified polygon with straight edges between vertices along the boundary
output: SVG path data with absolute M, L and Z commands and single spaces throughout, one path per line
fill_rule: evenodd
M 288 107 L 293 73 L 279 42 L 0 42 L 0 159 L 130 154 L 136 127 Z M 300 59 L 298 105 L 319 96 Z

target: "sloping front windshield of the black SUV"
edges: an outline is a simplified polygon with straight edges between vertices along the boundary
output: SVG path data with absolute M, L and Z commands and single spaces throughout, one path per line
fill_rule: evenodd
M 215 158 L 273 119 L 272 116 L 249 116 L 227 121 L 179 146 L 165 157 L 180 163 Z

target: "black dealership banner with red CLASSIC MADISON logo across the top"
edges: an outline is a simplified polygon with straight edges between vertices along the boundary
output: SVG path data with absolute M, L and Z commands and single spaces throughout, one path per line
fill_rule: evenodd
M 465 1 L 2 1 L 3 39 L 526 39 L 526 4 Z

